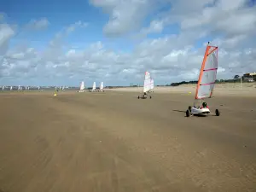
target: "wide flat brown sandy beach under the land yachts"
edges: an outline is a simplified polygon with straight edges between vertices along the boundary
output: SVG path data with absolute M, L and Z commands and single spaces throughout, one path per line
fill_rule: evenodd
M 256 191 L 256 89 L 175 89 L 0 93 L 0 191 Z

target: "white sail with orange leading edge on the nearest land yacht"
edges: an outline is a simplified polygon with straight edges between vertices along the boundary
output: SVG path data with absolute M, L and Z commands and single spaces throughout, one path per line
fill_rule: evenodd
M 212 96 L 212 91 L 218 70 L 218 47 L 207 44 L 201 72 L 195 91 L 195 99 L 203 99 Z

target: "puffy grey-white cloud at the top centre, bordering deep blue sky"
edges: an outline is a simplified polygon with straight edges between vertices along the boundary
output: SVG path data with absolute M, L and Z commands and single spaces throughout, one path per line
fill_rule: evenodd
M 109 15 L 108 23 L 103 28 L 109 37 L 119 37 L 139 30 L 145 16 L 158 5 L 154 0 L 90 0 L 90 3 Z

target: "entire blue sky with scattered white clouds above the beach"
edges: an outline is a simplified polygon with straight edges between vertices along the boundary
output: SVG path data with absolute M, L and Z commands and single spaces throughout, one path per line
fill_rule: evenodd
M 208 41 L 218 79 L 256 71 L 256 1 L 2 1 L 0 85 L 196 80 Z

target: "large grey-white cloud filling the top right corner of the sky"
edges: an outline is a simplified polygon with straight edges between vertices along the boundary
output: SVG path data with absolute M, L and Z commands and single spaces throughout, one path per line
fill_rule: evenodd
M 218 0 L 212 6 L 201 4 L 202 9 L 197 13 L 180 11 L 179 20 L 183 30 L 200 28 L 216 36 L 223 34 L 226 37 L 242 34 L 254 35 L 256 31 L 256 9 L 248 7 L 247 0 Z M 209 2 L 208 2 L 209 3 Z

